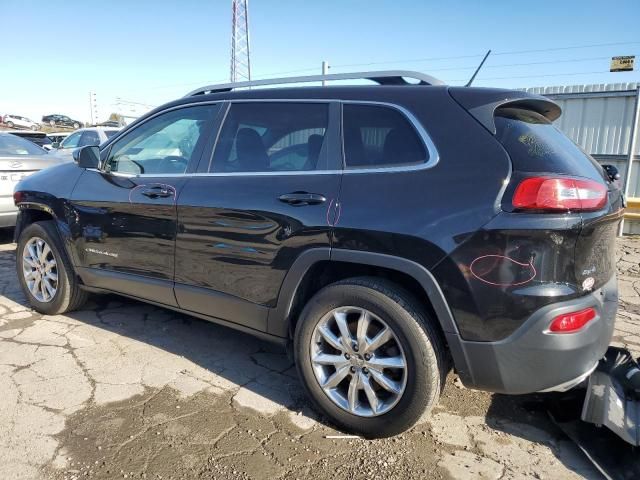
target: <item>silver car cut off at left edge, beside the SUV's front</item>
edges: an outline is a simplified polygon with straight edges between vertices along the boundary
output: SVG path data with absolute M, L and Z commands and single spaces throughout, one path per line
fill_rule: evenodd
M 60 160 L 24 138 L 0 132 L 0 227 L 16 224 L 18 209 L 13 203 L 13 188 L 24 177 Z

